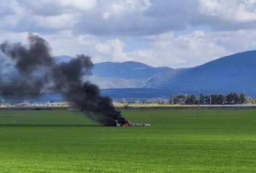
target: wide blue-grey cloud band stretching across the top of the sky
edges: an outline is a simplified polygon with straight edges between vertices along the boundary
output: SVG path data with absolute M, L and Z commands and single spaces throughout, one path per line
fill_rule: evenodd
M 50 2 L 50 1 L 49 1 Z M 25 9 L 23 17 L 18 19 L 16 26 L 3 26 L 4 29 L 10 31 L 29 31 L 39 33 L 52 33 L 62 30 L 71 30 L 74 34 L 93 34 L 93 35 L 152 35 L 160 34 L 166 31 L 184 30 L 188 26 L 205 25 L 213 30 L 237 30 L 252 29 L 256 27 L 253 20 L 236 20 L 233 18 L 225 18 L 221 13 L 225 13 L 225 5 L 221 11 L 217 11 L 216 15 L 202 12 L 205 7 L 204 3 L 208 1 L 199 0 L 153 0 L 151 5 L 146 1 L 136 2 L 135 7 L 129 4 L 122 4 L 124 1 L 97 1 L 97 6 L 86 10 L 78 10 L 74 7 L 61 6 L 60 3 L 52 2 L 43 3 L 34 1 L 19 1 L 22 9 Z M 42 3 L 42 2 L 41 2 Z M 117 3 L 117 4 L 115 4 Z M 242 3 L 244 10 L 253 13 L 254 4 L 245 1 L 237 2 L 218 2 L 218 5 L 228 4 L 237 7 Z M 113 6 L 123 5 L 123 9 L 115 12 Z M 139 4 L 139 5 L 138 5 Z M 125 6 L 127 5 L 127 6 Z M 227 5 L 227 8 L 228 8 Z M 8 10 L 9 11 L 9 10 Z M 229 13 L 228 11 L 226 13 Z M 231 11 L 236 13 L 236 9 Z M 3 12 L 2 12 L 3 13 Z M 5 15 L 6 12 L 2 14 Z M 14 12 L 15 13 L 15 12 Z M 52 23 L 37 23 L 36 17 L 56 17 L 63 13 L 74 16 L 74 23 L 71 24 L 70 19 L 67 20 L 66 26 L 50 27 Z M 0 13 L 1 15 L 1 13 Z M 73 19 L 73 18 L 71 18 Z M 61 19 L 63 20 L 63 19 Z M 50 22 L 50 21 L 49 21 Z

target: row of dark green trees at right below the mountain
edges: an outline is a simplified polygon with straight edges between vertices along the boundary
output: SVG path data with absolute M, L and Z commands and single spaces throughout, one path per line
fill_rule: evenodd
M 200 101 L 200 102 L 199 102 Z M 200 94 L 198 98 L 196 95 L 171 95 L 170 104 L 245 104 L 254 103 L 253 98 L 247 98 L 245 93 L 229 93 L 227 95 L 222 94 L 211 94 L 204 95 Z

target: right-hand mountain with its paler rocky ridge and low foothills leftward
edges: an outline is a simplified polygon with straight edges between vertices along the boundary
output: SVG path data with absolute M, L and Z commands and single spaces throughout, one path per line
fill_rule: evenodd
M 180 71 L 179 71 L 180 70 Z M 151 77 L 142 88 L 104 89 L 111 97 L 170 97 L 171 94 L 229 94 L 256 96 L 256 51 L 221 57 L 189 69 L 174 69 Z M 115 92 L 116 91 L 116 92 Z M 133 94 L 134 93 L 134 94 Z

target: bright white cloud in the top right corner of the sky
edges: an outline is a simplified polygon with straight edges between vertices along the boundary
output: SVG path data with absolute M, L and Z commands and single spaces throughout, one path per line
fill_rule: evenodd
M 199 13 L 205 23 L 216 30 L 236 30 L 256 27 L 256 1 L 203 1 Z M 202 21 L 201 21 L 202 22 Z

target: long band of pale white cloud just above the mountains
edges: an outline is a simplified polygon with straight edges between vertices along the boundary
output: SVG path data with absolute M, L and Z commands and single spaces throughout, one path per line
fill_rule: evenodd
M 125 51 L 129 40 L 108 38 L 101 40 L 93 35 L 74 36 L 71 32 L 51 37 L 49 40 L 54 55 L 86 54 L 94 63 L 114 61 L 138 61 L 153 67 L 167 66 L 172 68 L 195 67 L 219 57 L 255 49 L 256 31 L 246 35 L 245 30 L 233 32 L 206 32 L 197 30 L 187 35 L 175 35 L 166 32 L 137 38 L 143 47 L 134 45 L 132 50 Z M 242 40 L 242 41 L 241 41 Z M 247 40 L 246 42 L 244 40 Z M 246 44 L 245 44 L 246 43 Z

